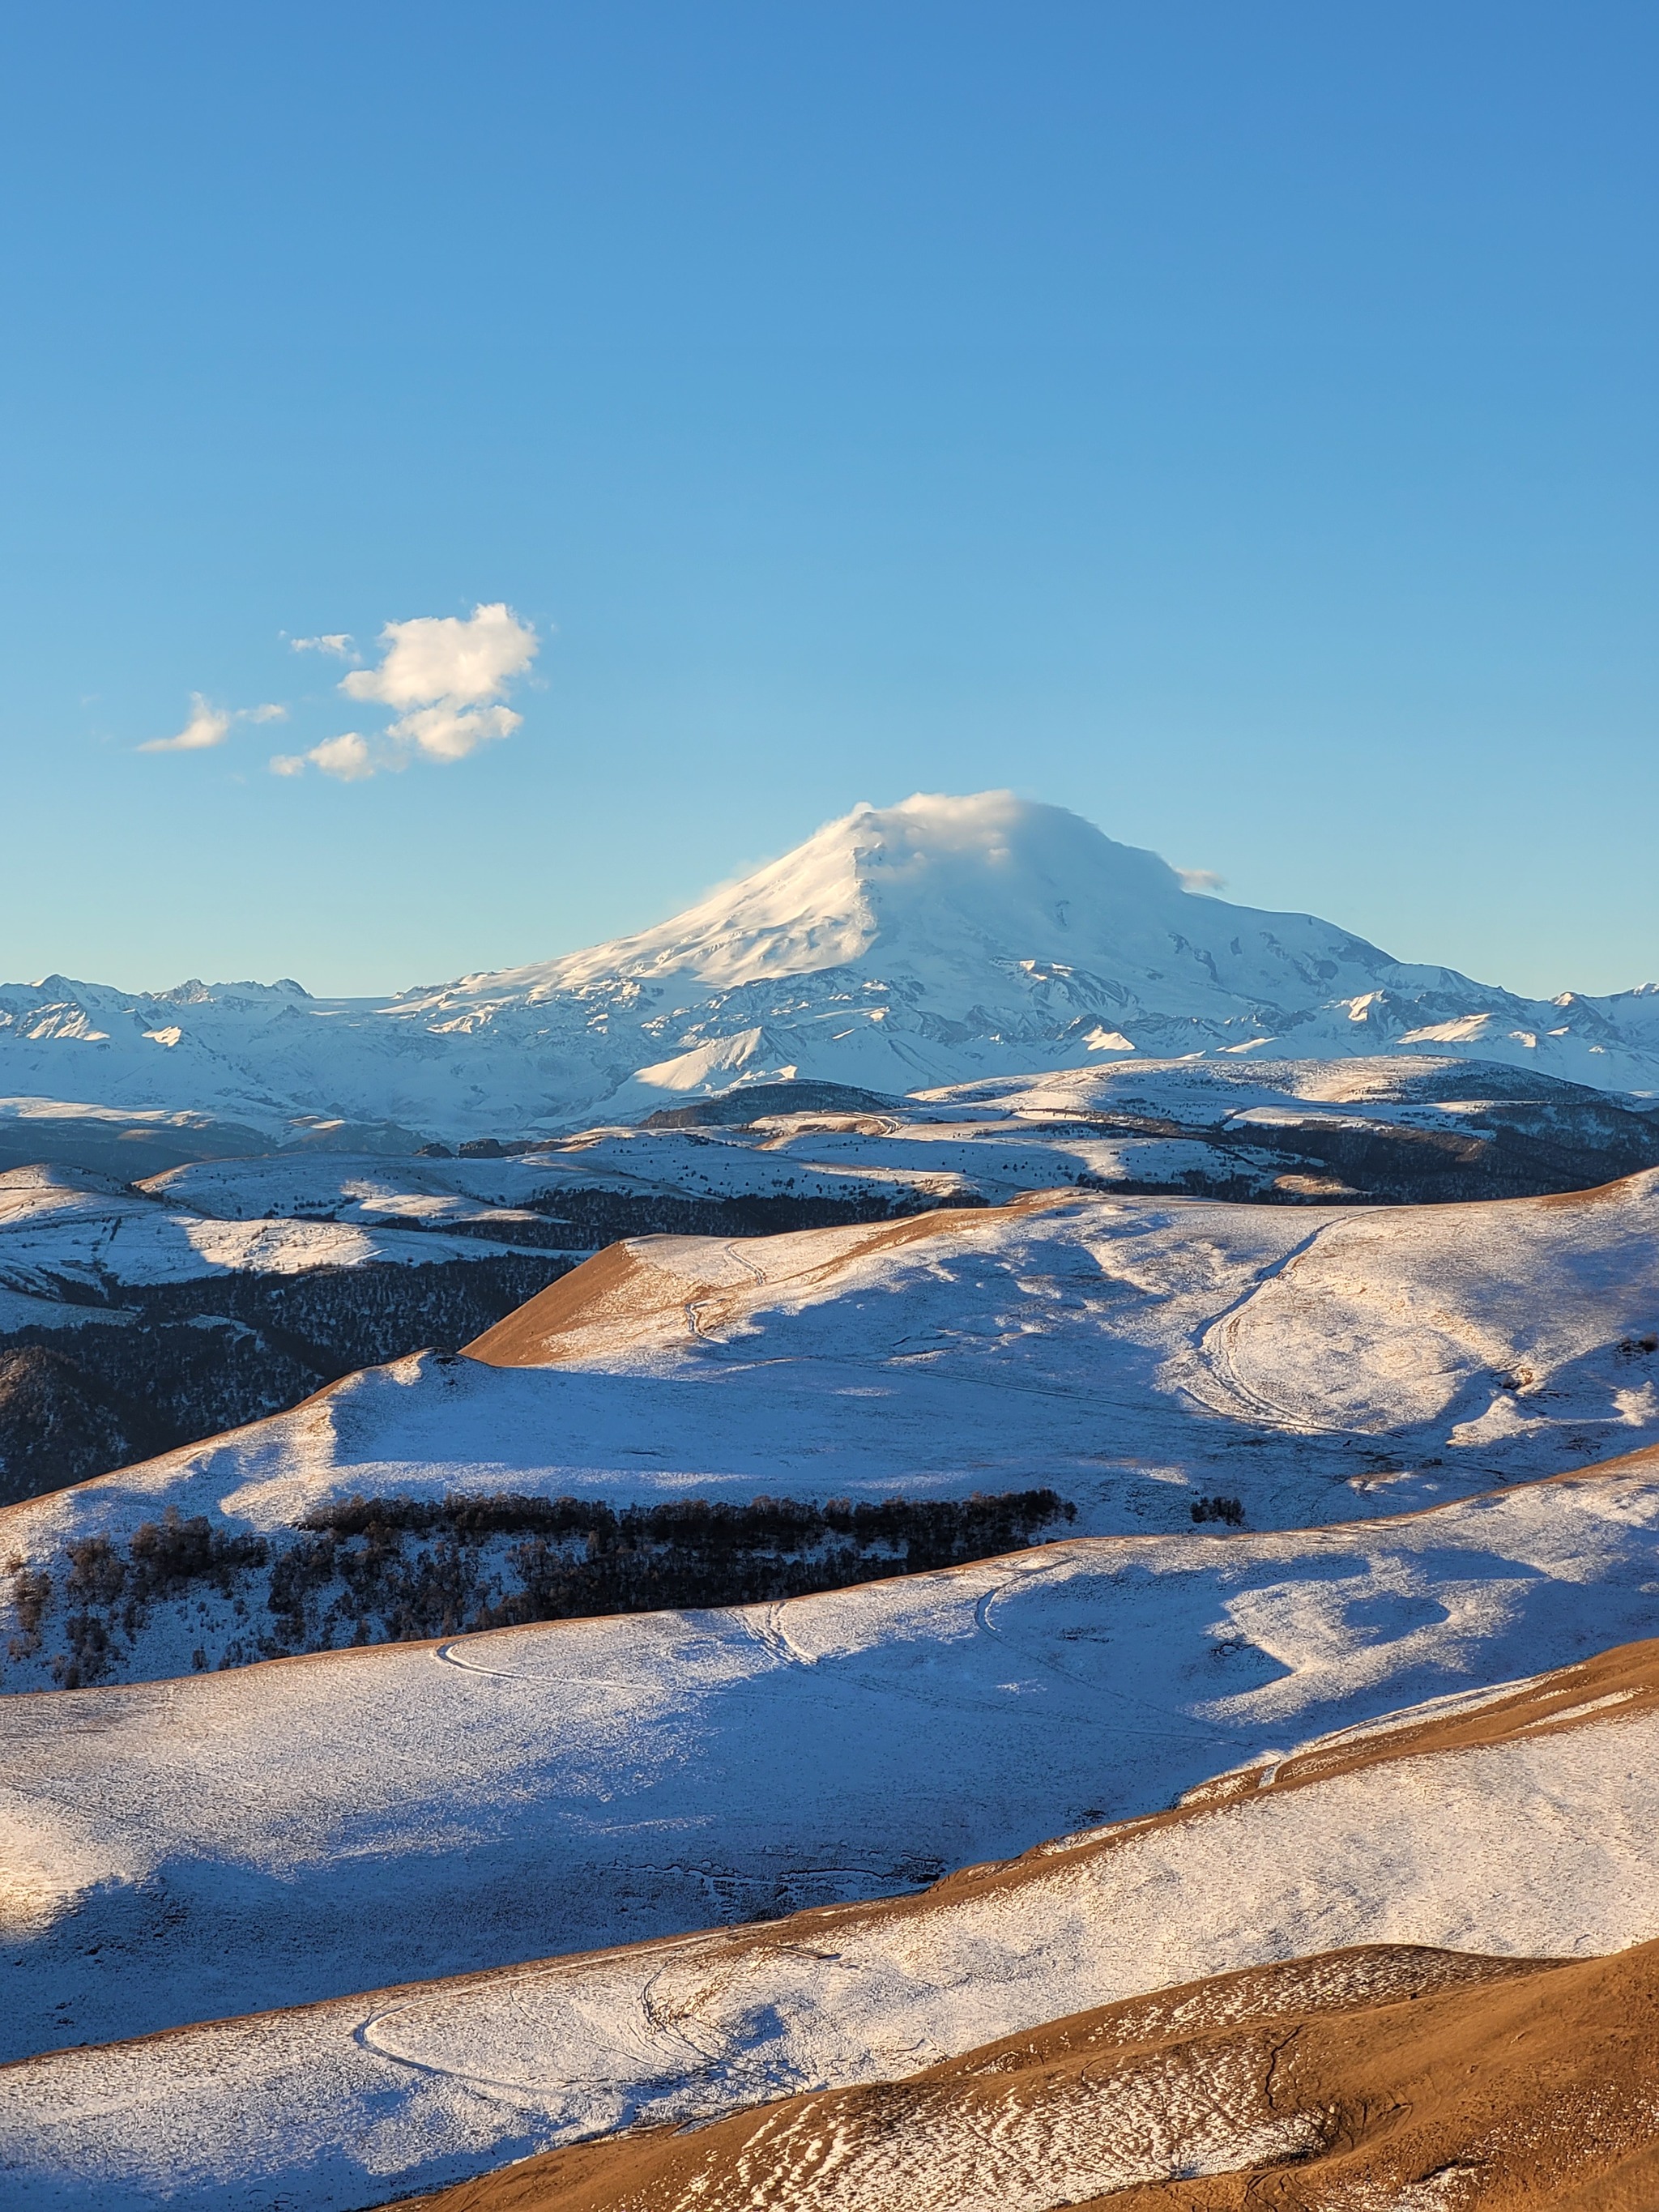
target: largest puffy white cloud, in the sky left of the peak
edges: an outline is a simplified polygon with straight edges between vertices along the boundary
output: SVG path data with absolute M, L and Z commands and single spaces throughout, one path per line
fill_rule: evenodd
M 380 646 L 380 664 L 354 668 L 341 677 L 341 690 L 347 699 L 396 708 L 387 730 L 378 739 L 347 730 L 310 752 L 276 754 L 272 774 L 299 776 L 310 763 L 325 776 L 361 783 L 411 761 L 465 761 L 522 723 L 524 717 L 502 701 L 513 677 L 535 659 L 540 639 L 504 602 L 476 606 L 465 619 L 387 622 Z

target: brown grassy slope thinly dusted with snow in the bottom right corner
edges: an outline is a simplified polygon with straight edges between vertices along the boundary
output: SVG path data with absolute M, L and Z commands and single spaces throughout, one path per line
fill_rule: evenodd
M 1652 2212 L 1657 2095 L 1659 1944 L 1564 1964 L 1367 1947 L 1079 2013 L 905 2081 L 575 2146 L 425 2203 Z

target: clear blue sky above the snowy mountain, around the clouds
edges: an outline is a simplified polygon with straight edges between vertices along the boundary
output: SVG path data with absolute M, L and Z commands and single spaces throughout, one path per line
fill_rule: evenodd
M 11 9 L 0 973 L 438 980 L 984 785 L 1659 973 L 1657 62 L 1619 0 Z M 535 659 L 398 708 L 383 626 L 498 604 Z M 137 750 L 192 695 L 288 719 Z M 387 734 L 451 710 L 520 719 Z M 341 734 L 405 765 L 268 768 Z

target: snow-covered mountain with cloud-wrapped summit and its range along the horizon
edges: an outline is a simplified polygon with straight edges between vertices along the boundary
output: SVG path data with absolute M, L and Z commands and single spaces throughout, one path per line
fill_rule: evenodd
M 854 807 L 670 922 L 394 998 L 0 987 L 0 1095 L 440 1137 L 790 1077 L 905 1093 L 1141 1057 L 1433 1053 L 1659 1091 L 1659 987 L 1540 1002 L 1186 889 L 1009 792 Z

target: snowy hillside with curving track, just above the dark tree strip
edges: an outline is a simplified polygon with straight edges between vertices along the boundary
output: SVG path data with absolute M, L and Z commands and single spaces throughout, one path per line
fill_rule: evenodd
M 281 1544 L 352 1495 L 498 1491 L 630 1504 L 1046 1484 L 1077 1533 L 1102 1535 L 1190 1531 L 1197 1495 L 1241 1500 L 1254 1528 L 1398 1513 L 1659 1440 L 1657 1230 L 1650 1170 L 1573 1199 L 1292 1210 L 1066 1192 L 635 1239 L 619 1248 L 635 1276 L 553 1340 L 555 1365 L 363 1369 L 9 1506 L 0 1551 L 60 1562 L 168 1506 Z M 188 1621 L 157 1606 L 124 1670 L 177 1672 L 197 1644 L 217 1663 L 241 1635 L 212 1593 Z M 9 1661 L 7 1688 L 51 1686 L 51 1659 L 46 1639 Z

